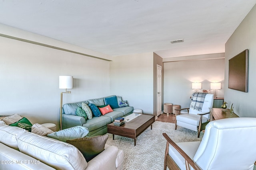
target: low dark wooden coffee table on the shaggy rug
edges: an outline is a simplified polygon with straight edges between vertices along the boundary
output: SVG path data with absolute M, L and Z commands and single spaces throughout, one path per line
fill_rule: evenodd
M 138 117 L 135 117 L 121 126 L 115 126 L 114 123 L 108 124 L 108 133 L 113 134 L 113 140 L 114 135 L 132 138 L 134 139 L 134 146 L 136 146 L 136 137 L 138 137 L 148 127 L 151 126 L 152 129 L 154 121 L 154 115 L 140 114 Z

